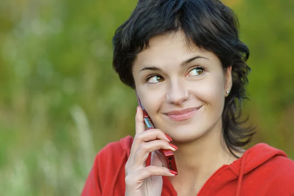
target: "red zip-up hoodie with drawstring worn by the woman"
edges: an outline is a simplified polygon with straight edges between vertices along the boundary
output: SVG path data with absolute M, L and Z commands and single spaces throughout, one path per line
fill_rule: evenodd
M 132 142 L 126 136 L 98 153 L 81 196 L 124 196 L 124 165 Z M 166 176 L 161 195 L 177 195 Z M 218 169 L 197 196 L 294 196 L 294 161 L 281 150 L 257 144 Z

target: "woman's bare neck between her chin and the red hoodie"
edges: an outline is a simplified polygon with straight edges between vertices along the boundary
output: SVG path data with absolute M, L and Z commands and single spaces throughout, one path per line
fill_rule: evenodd
M 205 182 L 218 168 L 231 164 L 237 158 L 229 153 L 221 131 L 221 121 L 210 131 L 190 142 L 174 142 L 178 176 L 191 181 Z M 236 153 L 240 155 L 240 153 Z

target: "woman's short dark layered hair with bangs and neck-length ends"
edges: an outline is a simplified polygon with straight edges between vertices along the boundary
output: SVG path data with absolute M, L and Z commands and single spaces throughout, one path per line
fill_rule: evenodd
M 248 144 L 253 132 L 241 121 L 241 105 L 247 99 L 245 85 L 250 67 L 248 47 L 239 39 L 239 22 L 220 0 L 139 0 L 130 18 L 113 37 L 113 67 L 121 81 L 135 88 L 132 65 L 136 55 L 149 47 L 150 38 L 182 30 L 187 43 L 216 54 L 226 70 L 232 66 L 233 84 L 225 98 L 222 132 L 230 153 Z M 189 44 L 188 44 L 189 45 Z

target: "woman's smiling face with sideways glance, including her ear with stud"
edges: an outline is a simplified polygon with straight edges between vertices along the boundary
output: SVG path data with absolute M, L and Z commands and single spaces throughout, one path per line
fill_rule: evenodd
M 182 32 L 156 36 L 140 52 L 132 74 L 142 105 L 155 128 L 179 142 L 194 140 L 216 126 L 221 128 L 226 72 L 212 52 L 187 47 Z

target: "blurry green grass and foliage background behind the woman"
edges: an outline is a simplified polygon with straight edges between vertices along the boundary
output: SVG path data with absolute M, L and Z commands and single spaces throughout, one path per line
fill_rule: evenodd
M 0 196 L 79 195 L 95 154 L 134 135 L 111 38 L 137 0 L 0 0 Z M 294 159 L 294 1 L 224 0 L 249 46 L 244 114 Z

